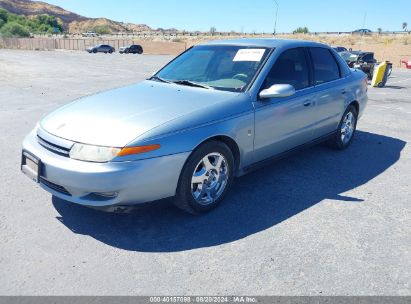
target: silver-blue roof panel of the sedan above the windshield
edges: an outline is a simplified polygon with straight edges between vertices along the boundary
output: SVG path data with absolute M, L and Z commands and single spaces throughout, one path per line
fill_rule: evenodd
M 276 39 L 276 38 L 244 38 L 232 40 L 212 40 L 200 45 L 236 45 L 236 46 L 253 46 L 253 47 L 329 47 L 322 43 L 305 40 Z

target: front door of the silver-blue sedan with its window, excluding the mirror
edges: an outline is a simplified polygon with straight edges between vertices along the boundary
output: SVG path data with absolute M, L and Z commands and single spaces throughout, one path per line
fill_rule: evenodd
M 284 51 L 274 63 L 262 89 L 291 84 L 296 94 L 257 100 L 255 106 L 254 160 L 261 161 L 314 138 L 315 95 L 308 53 L 304 48 Z

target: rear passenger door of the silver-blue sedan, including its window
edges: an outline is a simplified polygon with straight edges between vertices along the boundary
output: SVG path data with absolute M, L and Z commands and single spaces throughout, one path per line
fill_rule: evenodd
M 315 137 L 322 137 L 334 132 L 344 111 L 346 82 L 340 66 L 331 50 L 323 47 L 310 47 L 314 73 L 314 85 L 317 91 Z

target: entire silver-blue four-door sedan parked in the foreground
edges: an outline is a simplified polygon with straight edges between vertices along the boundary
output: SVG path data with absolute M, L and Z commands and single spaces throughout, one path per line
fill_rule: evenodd
M 268 161 L 321 141 L 347 148 L 366 104 L 366 75 L 328 46 L 210 42 L 142 83 L 47 115 L 25 138 L 21 167 L 73 203 L 172 197 L 202 213 L 223 200 L 235 177 Z

